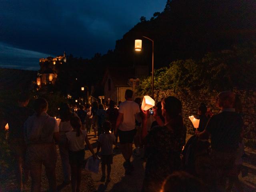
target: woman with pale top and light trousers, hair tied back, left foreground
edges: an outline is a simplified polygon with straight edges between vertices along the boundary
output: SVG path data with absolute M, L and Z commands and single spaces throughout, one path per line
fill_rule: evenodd
M 40 192 L 42 164 L 45 166 L 50 191 L 56 191 L 57 152 L 54 140 L 58 141 L 58 124 L 46 112 L 48 103 L 44 98 L 34 102 L 35 113 L 24 123 L 24 139 L 27 144 L 26 166 L 32 178 L 32 192 Z

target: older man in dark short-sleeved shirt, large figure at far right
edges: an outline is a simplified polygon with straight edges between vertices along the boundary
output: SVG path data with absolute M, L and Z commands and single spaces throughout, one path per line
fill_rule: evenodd
M 224 191 L 226 176 L 234 166 L 243 120 L 233 108 L 235 94 L 221 92 L 216 98 L 220 113 L 210 118 L 205 130 L 198 134 L 200 139 L 211 136 L 211 159 L 216 170 L 216 187 Z

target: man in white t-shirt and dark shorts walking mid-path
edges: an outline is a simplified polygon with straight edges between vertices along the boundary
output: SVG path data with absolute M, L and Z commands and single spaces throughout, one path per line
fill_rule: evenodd
M 130 158 L 132 156 L 132 143 L 135 136 L 135 115 L 140 112 L 139 105 L 132 101 L 133 92 L 127 89 L 125 92 L 126 101 L 122 102 L 119 107 L 119 114 L 116 120 L 116 128 L 114 133 L 117 133 L 120 139 L 120 148 L 124 156 L 125 173 L 130 174 L 132 165 Z

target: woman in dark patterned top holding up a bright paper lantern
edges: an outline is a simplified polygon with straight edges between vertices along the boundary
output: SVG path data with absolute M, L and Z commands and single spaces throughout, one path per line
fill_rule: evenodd
M 161 104 L 165 124 L 153 127 L 146 138 L 148 161 L 142 187 L 145 192 L 159 191 L 166 176 L 181 168 L 180 153 L 186 134 L 181 116 L 182 104 L 173 96 L 164 98 Z M 147 113 L 143 113 L 145 120 Z

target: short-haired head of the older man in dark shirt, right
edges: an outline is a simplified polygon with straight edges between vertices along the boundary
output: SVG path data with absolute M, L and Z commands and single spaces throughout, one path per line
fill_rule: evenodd
M 217 107 L 220 109 L 233 108 L 236 96 L 231 91 L 220 92 L 216 98 Z

